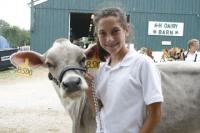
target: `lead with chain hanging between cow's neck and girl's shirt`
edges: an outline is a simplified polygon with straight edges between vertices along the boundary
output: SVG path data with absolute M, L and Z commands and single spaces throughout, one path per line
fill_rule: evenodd
M 101 121 L 101 116 L 100 116 L 100 107 L 99 107 L 99 103 L 98 103 L 97 97 L 95 95 L 94 80 L 92 80 L 92 82 L 91 82 L 91 87 L 92 87 L 91 88 L 92 89 L 92 97 L 93 97 L 93 101 L 94 101 L 94 107 L 95 107 L 95 113 L 96 113 L 96 122 L 97 122 L 97 131 L 96 131 L 96 133 L 104 133 L 103 125 L 102 125 L 102 121 Z

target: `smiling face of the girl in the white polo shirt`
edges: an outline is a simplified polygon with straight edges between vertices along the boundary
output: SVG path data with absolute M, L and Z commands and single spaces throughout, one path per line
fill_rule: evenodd
M 125 48 L 128 34 L 128 27 L 124 29 L 114 16 L 101 18 L 97 24 L 99 43 L 110 54 L 116 54 Z

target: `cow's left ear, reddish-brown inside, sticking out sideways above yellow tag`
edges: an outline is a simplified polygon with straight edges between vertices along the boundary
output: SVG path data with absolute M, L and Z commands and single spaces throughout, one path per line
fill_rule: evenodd
M 20 51 L 11 55 L 10 61 L 14 66 L 20 66 L 28 61 L 30 67 L 38 67 L 44 64 L 44 55 L 34 51 Z

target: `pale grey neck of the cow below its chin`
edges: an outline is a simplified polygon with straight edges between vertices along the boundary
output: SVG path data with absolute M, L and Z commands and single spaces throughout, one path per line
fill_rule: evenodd
M 82 93 L 76 99 L 63 99 L 58 90 L 59 88 L 56 88 L 61 103 L 72 119 L 72 133 L 94 133 L 96 131 L 95 115 L 89 108 L 86 93 Z

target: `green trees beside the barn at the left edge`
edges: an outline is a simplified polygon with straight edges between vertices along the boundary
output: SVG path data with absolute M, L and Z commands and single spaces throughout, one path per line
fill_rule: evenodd
M 13 48 L 30 45 L 30 31 L 22 30 L 17 26 L 10 26 L 4 20 L 0 20 L 0 34 L 8 40 Z

